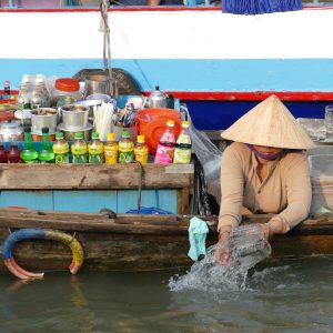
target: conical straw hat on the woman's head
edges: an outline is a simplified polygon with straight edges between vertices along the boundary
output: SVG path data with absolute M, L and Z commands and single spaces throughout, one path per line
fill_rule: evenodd
M 242 143 L 285 149 L 314 147 L 302 125 L 274 94 L 241 117 L 221 137 Z

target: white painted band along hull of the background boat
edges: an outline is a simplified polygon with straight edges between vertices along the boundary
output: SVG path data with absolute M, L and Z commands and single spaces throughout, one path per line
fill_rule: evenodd
M 115 59 L 333 58 L 333 9 L 263 16 L 111 12 Z M 99 12 L 0 12 L 0 58 L 99 59 Z M 4 47 L 6 46 L 6 47 Z

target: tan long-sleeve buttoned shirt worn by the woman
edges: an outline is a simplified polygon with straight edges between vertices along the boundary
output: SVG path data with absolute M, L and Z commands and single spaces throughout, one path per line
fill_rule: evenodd
M 304 153 L 289 152 L 272 161 L 263 182 L 256 173 L 255 153 L 246 144 L 233 142 L 224 150 L 221 163 L 219 230 L 223 225 L 238 226 L 242 206 L 279 216 L 284 232 L 309 215 L 312 191 Z

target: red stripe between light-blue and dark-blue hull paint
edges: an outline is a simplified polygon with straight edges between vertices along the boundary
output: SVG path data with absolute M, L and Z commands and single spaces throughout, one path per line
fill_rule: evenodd
M 253 92 L 189 92 L 189 91 L 169 91 L 180 100 L 203 100 L 203 101 L 262 101 L 271 94 L 278 95 L 282 101 L 311 102 L 311 101 L 333 101 L 332 92 L 322 91 L 253 91 Z M 144 95 L 150 92 L 145 91 Z

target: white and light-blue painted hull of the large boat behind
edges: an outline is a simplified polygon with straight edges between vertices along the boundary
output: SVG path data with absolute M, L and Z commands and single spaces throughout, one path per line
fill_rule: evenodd
M 143 91 L 159 84 L 180 98 L 188 93 L 184 100 L 216 100 L 229 92 L 233 100 L 232 93 L 256 91 L 285 92 L 285 101 L 292 100 L 287 93 L 304 92 L 307 100 L 333 99 L 327 38 L 333 8 L 263 16 L 233 16 L 216 8 L 124 9 L 110 11 L 109 20 L 112 65 L 129 71 Z M 102 68 L 99 27 L 97 10 L 0 10 L 0 31 L 9 31 L 1 36 L 0 81 L 9 79 L 18 88 L 24 73 L 71 77 L 83 68 Z M 229 112 L 230 105 L 224 107 Z M 215 108 L 218 123 L 224 111 Z M 322 115 L 323 105 L 306 112 Z

